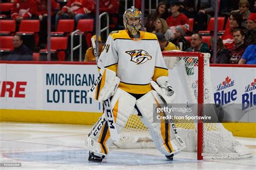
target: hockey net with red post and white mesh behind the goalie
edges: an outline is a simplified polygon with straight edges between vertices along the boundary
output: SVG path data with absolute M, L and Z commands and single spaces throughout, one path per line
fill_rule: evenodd
M 170 84 L 176 96 L 179 96 L 173 103 L 214 103 L 210 54 L 164 52 L 163 55 L 167 68 L 171 69 Z M 172 74 L 174 72 L 177 74 Z M 199 104 L 199 107 L 203 105 Z M 203 112 L 207 110 L 203 109 Z M 185 151 L 197 151 L 198 159 L 240 159 L 252 155 L 221 123 L 194 123 L 186 120 L 174 120 L 174 123 L 179 136 L 185 140 Z M 131 114 L 120 140 L 114 144 L 119 148 L 154 147 L 149 130 L 136 112 Z

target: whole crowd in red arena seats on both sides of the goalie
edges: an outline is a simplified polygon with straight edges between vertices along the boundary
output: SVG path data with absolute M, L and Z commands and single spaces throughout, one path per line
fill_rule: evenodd
M 214 17 L 215 2 L 215 0 L 163 0 L 158 3 L 155 11 L 149 15 L 146 13 L 145 31 L 156 33 L 160 38 L 159 43 L 163 51 L 180 49 L 212 53 L 214 30 L 214 18 L 212 17 Z M 23 45 L 31 48 L 33 52 L 46 49 L 47 3 L 47 0 L 0 0 L 1 20 L 15 20 L 15 30 L 12 31 L 8 30 L 11 26 L 7 26 L 8 29 L 4 30 L 4 22 L 0 21 L 0 48 L 4 49 L 3 52 L 7 51 L 7 48 L 1 45 L 2 37 L 14 37 L 15 34 L 29 35 L 29 40 L 25 37 L 21 38 L 21 36 L 18 38 L 21 38 Z M 10 4 L 9 10 L 8 7 L 2 7 L 2 5 Z M 139 0 L 135 1 L 135 5 L 136 8 L 141 8 Z M 79 20 L 93 19 L 92 24 L 95 25 L 95 6 L 95 0 L 69 0 L 67 3 L 51 0 L 51 31 L 56 31 L 52 32 L 51 36 L 67 37 L 66 47 L 68 50 L 64 49 L 64 53 L 69 53 L 70 32 L 64 31 L 59 34 L 59 30 L 62 30 L 58 29 L 60 21 L 71 20 L 71 24 L 66 24 L 64 27 L 67 29 L 71 27 L 72 31 L 80 29 L 82 22 L 79 23 Z M 119 0 L 99 1 L 100 13 L 107 12 L 110 15 L 111 30 L 118 30 L 118 25 L 122 25 L 124 9 L 123 6 L 122 8 L 119 6 Z M 218 22 L 217 58 L 215 61 L 211 58 L 211 62 L 256 64 L 256 2 L 254 0 L 219 0 L 218 11 L 218 21 L 220 20 L 220 22 Z M 23 20 L 39 20 L 40 22 L 38 31 L 32 31 L 34 46 L 28 44 L 31 41 L 31 34 L 29 34 L 31 29 L 21 31 Z M 95 27 L 91 27 L 92 29 L 86 30 L 85 28 L 83 31 L 85 39 L 83 48 L 86 49 L 90 48 L 90 39 L 95 34 Z M 3 39 L 5 41 L 7 38 Z M 10 47 L 10 51 L 13 48 L 16 49 L 16 47 Z M 85 56 L 84 54 L 83 56 Z M 38 58 L 33 59 L 39 60 Z M 84 61 L 91 61 L 84 59 Z M 58 60 L 60 60 L 59 57 Z M 61 60 L 67 61 L 69 58 L 64 55 Z

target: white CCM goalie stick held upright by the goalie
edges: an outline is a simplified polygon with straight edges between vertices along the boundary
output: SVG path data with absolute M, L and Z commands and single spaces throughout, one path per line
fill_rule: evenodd
M 91 41 L 92 41 L 93 53 L 95 54 L 96 62 L 98 62 L 99 56 L 97 53 L 95 39 L 91 38 Z M 104 112 L 107 117 L 107 124 L 109 125 L 110 136 L 113 140 L 118 141 L 120 138 L 120 134 L 118 134 L 117 125 L 114 122 L 113 109 L 111 107 L 110 98 L 107 98 L 107 100 L 103 101 L 103 106 L 104 106 Z

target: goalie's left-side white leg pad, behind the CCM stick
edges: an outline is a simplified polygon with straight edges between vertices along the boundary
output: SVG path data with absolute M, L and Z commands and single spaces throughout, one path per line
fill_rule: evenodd
M 117 132 L 124 128 L 136 103 L 136 98 L 118 88 L 111 100 Z M 112 145 L 106 114 L 99 118 L 86 139 L 87 149 L 98 155 L 107 155 Z

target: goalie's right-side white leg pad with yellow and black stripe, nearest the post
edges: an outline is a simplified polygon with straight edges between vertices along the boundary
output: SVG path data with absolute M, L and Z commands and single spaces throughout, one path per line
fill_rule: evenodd
M 153 104 L 163 103 L 156 91 L 151 90 L 137 100 L 137 107 L 143 115 L 142 122 L 149 127 L 156 148 L 164 155 L 179 153 L 184 147 L 184 141 L 177 135 L 174 123 L 161 121 L 153 122 Z M 164 113 L 163 113 L 164 114 Z

